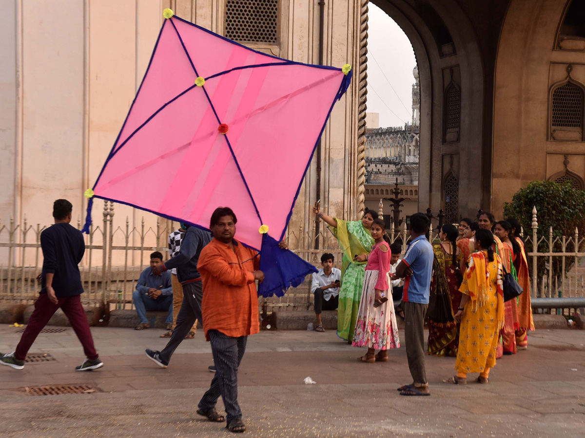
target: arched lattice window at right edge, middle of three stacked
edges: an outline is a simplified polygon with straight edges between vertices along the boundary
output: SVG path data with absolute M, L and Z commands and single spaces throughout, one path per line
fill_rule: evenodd
M 552 126 L 583 127 L 583 90 L 579 86 L 567 82 L 552 93 Z

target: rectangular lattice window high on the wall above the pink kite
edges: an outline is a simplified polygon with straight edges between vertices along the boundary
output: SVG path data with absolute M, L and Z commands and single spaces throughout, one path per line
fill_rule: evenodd
M 226 0 L 225 36 L 249 43 L 278 43 L 278 0 Z

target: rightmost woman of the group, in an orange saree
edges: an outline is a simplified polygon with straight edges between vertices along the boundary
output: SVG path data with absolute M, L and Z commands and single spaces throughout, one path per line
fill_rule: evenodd
M 530 274 L 528 272 L 528 259 L 524 249 L 524 241 L 520 237 L 520 223 L 516 218 L 506 219 L 512 225 L 512 236 L 518 242 L 520 254 L 514 260 L 514 267 L 518 274 L 518 284 L 524 292 L 518 297 L 518 324 L 516 330 L 516 346 L 518 350 L 528 349 L 528 332 L 534 330 L 532 319 L 532 304 L 530 302 Z

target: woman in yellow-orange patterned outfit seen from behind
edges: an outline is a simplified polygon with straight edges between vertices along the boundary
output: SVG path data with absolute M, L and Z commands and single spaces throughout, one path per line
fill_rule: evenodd
M 495 365 L 495 350 L 504 321 L 502 262 L 494 254 L 494 237 L 488 230 L 476 233 L 476 250 L 459 291 L 463 294 L 455 318 L 461 321 L 456 376 L 445 383 L 465 385 L 467 373 L 480 373 L 479 383 L 488 383 Z

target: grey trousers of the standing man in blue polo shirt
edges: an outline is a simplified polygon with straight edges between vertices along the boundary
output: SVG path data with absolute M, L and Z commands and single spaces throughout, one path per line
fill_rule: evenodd
M 402 303 L 408 368 L 415 384 L 426 384 L 425 314 L 428 304 Z

